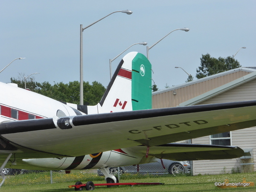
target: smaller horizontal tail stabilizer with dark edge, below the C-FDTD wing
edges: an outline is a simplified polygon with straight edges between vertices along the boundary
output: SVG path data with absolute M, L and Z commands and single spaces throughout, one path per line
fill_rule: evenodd
M 136 146 L 132 149 L 141 153 L 147 151 L 146 146 Z M 233 146 L 169 143 L 150 147 L 148 155 L 174 161 L 213 160 L 238 158 L 244 155 L 244 151 Z

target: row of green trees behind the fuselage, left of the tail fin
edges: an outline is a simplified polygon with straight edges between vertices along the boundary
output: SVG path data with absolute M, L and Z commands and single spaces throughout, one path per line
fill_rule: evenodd
M 11 83 L 18 84 L 18 87 L 24 88 L 24 79 L 11 78 Z M 26 79 L 26 87 L 35 93 L 50 97 L 60 102 L 68 102 L 73 104 L 79 104 L 80 102 L 80 84 L 79 81 L 69 82 L 64 84 L 63 82 L 49 84 L 45 81 L 43 83 L 35 82 L 33 78 Z M 93 81 L 90 84 L 88 81 L 84 82 L 84 105 L 96 105 L 105 93 L 105 87 L 97 82 Z

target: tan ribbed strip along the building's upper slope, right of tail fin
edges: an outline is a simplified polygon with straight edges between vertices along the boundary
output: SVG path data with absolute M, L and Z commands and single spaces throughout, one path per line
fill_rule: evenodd
M 184 85 L 184 87 L 180 87 L 175 90 L 176 95 L 173 95 L 173 90 L 153 95 L 152 108 L 176 107 L 182 102 L 206 93 L 209 90 L 220 87 L 221 85 L 227 84 L 228 82 L 236 80 L 247 74 L 249 74 L 249 72 L 238 71 L 214 79 L 209 79 L 207 81 L 191 84 L 189 86 Z

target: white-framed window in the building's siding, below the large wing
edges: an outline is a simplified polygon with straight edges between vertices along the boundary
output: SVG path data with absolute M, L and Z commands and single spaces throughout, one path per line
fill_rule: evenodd
M 221 134 L 214 134 L 210 136 L 210 142 L 212 145 L 231 145 L 231 132 L 225 132 Z

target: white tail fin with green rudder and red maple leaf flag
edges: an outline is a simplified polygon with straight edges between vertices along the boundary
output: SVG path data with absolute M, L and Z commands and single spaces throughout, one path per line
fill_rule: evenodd
M 98 104 L 98 112 L 151 109 L 151 103 L 151 64 L 145 55 L 130 52 L 116 68 Z

